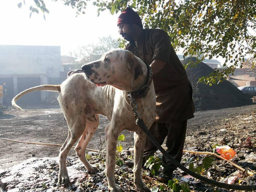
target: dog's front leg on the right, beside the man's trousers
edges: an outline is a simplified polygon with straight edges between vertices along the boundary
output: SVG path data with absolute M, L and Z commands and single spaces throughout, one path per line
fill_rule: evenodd
M 150 192 L 150 189 L 143 183 L 141 179 L 141 169 L 143 161 L 143 151 L 146 143 L 147 135 L 141 130 L 134 133 L 134 150 L 135 150 L 135 159 L 134 159 L 134 183 L 136 188 L 140 192 Z

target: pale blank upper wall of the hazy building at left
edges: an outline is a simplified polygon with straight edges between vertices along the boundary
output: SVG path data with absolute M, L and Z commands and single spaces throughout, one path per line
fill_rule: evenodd
M 0 45 L 0 75 L 43 74 L 59 78 L 60 46 Z

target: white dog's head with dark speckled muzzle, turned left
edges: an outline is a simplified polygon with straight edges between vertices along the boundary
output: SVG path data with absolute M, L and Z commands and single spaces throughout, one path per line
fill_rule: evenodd
M 135 81 L 140 79 L 146 67 L 130 51 L 115 49 L 102 55 L 100 60 L 83 65 L 82 70 L 98 86 L 112 85 L 129 92 L 136 89 Z

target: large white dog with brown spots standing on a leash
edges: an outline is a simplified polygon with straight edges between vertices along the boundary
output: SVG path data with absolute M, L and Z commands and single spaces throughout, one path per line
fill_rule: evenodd
M 99 126 L 98 114 L 101 114 L 108 117 L 110 121 L 105 129 L 107 141 L 105 170 L 108 190 L 111 192 L 123 191 L 120 186 L 115 184 L 114 177 L 117 139 L 124 129 L 135 132 L 134 182 L 139 191 L 150 192 L 141 179 L 146 134 L 135 124 L 134 112 L 128 98 L 128 92 L 135 93 L 136 97 L 137 92 L 135 91 L 146 90 L 146 94 L 142 93 L 143 96 L 139 96 L 139 99 L 137 98 L 135 101 L 141 119 L 144 120 L 146 126 L 150 127 L 155 119 L 155 89 L 152 76 L 149 78 L 148 66 L 133 53 L 118 49 L 104 54 L 100 60 L 84 65 L 82 69 L 86 74 L 81 71 L 73 71 L 61 85 L 36 86 L 19 93 L 13 98 L 12 105 L 20 108 L 16 105 L 16 100 L 29 92 L 39 90 L 59 92 L 58 101 L 68 125 L 68 136 L 59 155 L 59 183 L 65 185 L 69 183 L 66 167 L 67 153 L 78 139 L 75 147 L 77 156 L 86 166 L 88 172 L 97 171 L 96 167 L 88 163 L 85 151 L 89 140 Z M 144 89 L 145 85 L 149 89 Z

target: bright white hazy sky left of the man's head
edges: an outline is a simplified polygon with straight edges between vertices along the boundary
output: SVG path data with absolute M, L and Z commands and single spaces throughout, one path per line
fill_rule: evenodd
M 97 17 L 97 7 L 90 5 L 86 14 L 76 17 L 76 10 L 65 6 L 63 1 L 44 1 L 50 11 L 46 20 L 42 13 L 29 18 L 33 0 L 25 0 L 26 6 L 21 8 L 17 5 L 23 0 L 0 0 L 0 45 L 61 46 L 64 55 L 77 46 L 98 41 L 99 37 L 121 37 L 116 26 L 119 14 L 105 11 Z

